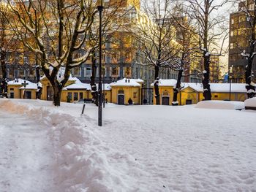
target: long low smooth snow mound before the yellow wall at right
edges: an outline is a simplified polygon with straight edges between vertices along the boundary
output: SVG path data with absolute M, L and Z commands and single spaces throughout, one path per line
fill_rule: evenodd
M 222 109 L 222 110 L 242 110 L 244 102 L 241 101 L 200 101 L 196 108 Z

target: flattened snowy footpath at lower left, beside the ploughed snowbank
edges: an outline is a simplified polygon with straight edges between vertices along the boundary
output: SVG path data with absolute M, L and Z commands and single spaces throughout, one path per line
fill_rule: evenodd
M 55 191 L 47 128 L 4 107 L 0 107 L 0 122 L 0 191 Z

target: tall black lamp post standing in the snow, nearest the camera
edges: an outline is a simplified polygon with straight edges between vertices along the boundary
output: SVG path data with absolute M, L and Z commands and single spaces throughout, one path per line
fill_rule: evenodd
M 98 104 L 98 126 L 102 126 L 102 0 L 97 7 L 99 11 L 99 104 Z

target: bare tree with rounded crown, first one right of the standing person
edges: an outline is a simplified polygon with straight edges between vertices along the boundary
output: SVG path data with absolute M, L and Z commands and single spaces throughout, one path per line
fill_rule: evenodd
M 148 1 L 140 13 L 136 35 L 140 50 L 146 57 L 147 66 L 154 67 L 154 93 L 156 103 L 159 99 L 159 69 L 171 63 L 178 54 L 175 41 L 175 28 L 171 22 L 171 0 Z

